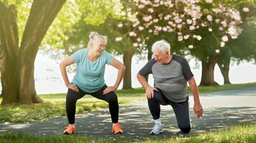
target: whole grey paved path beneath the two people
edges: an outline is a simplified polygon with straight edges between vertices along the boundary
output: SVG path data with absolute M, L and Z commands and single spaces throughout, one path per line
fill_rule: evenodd
M 190 136 L 212 129 L 232 127 L 236 124 L 256 123 L 256 87 L 232 89 L 223 92 L 201 94 L 204 107 L 202 119 L 196 119 L 192 111 L 193 97 L 190 97 L 192 129 Z M 172 137 L 179 134 L 176 118 L 171 106 L 161 106 L 161 120 L 164 132 L 158 136 L 149 135 L 153 119 L 146 101 L 139 101 L 120 107 L 119 122 L 125 134 L 111 134 L 111 120 L 108 109 L 87 114 L 77 114 L 77 134 L 85 137 L 108 137 L 110 139 L 138 139 Z M 4 124 L 0 122 L 0 132 L 14 131 L 37 136 L 61 135 L 67 126 L 66 117 L 56 117 L 47 122 L 28 124 Z

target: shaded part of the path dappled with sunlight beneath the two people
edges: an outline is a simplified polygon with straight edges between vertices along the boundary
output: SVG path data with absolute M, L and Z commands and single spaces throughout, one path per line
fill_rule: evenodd
M 190 110 L 191 111 L 191 110 Z M 202 119 L 196 119 L 191 111 L 192 129 L 190 134 L 180 134 L 176 124 L 176 118 L 170 106 L 161 106 L 161 120 L 163 134 L 151 136 L 149 132 L 153 127 L 153 119 L 148 110 L 146 102 L 138 102 L 120 106 L 119 122 L 125 130 L 125 134 L 114 135 L 111 131 L 111 119 L 108 109 L 100 109 L 95 112 L 76 115 L 77 136 L 82 137 L 108 137 L 110 139 L 138 139 L 162 137 L 190 137 L 202 132 L 209 132 L 216 129 L 226 129 L 237 124 L 256 124 L 256 107 L 232 107 L 232 108 L 207 108 L 204 110 Z M 27 132 L 39 136 L 60 135 L 67 126 L 65 117 L 57 117 L 47 122 L 33 122 L 25 126 L 23 124 L 14 126 L 0 124 L 1 132 L 6 129 L 16 132 Z

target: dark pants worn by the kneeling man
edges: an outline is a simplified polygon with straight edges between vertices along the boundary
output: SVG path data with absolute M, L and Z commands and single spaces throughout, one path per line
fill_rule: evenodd
M 188 133 L 190 131 L 191 124 L 188 100 L 186 100 L 186 102 L 171 102 L 164 96 L 161 89 L 158 89 L 158 92 L 154 91 L 153 99 L 148 99 L 148 107 L 153 119 L 160 118 L 160 104 L 171 105 L 171 107 L 174 109 L 179 129 L 181 129 L 181 131 L 184 133 Z

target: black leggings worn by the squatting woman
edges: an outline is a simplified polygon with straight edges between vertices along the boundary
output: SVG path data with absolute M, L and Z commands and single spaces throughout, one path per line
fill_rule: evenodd
M 111 119 L 113 123 L 118 123 L 118 97 L 116 96 L 115 92 L 109 92 L 108 94 L 103 95 L 103 91 L 107 88 L 105 85 L 102 87 L 98 92 L 87 93 L 79 89 L 79 92 L 75 92 L 72 89 L 68 89 L 67 97 L 66 97 L 66 112 L 67 112 L 67 119 L 69 124 L 75 124 L 75 104 L 77 100 L 84 97 L 85 94 L 90 94 L 95 98 L 102 99 L 105 102 L 109 103 L 109 110 L 111 114 Z

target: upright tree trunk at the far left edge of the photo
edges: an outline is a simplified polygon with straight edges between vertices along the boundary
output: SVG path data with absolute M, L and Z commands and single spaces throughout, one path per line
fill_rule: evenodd
M 1 36 L 1 79 L 5 92 L 1 104 L 19 102 L 19 38 L 16 23 L 16 8 L 5 6 L 0 1 L 0 36 Z

